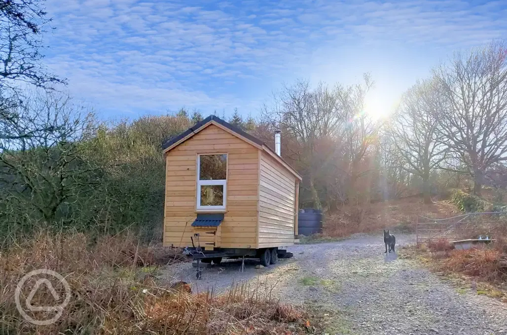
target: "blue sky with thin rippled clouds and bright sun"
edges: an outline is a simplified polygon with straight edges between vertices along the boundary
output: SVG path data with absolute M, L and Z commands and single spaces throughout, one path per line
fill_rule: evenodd
M 257 116 L 306 79 L 359 83 L 384 113 L 431 67 L 507 39 L 507 1 L 47 0 L 45 64 L 104 119 Z

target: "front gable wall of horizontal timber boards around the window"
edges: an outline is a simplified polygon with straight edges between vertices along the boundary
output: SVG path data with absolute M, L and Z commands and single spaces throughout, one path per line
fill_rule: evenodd
M 197 215 L 196 160 L 205 153 L 228 153 L 227 208 L 216 235 L 200 235 L 201 245 L 214 241 L 216 247 L 255 248 L 259 150 L 215 125 L 166 154 L 164 245 L 192 246 L 190 237 L 197 232 L 191 226 Z

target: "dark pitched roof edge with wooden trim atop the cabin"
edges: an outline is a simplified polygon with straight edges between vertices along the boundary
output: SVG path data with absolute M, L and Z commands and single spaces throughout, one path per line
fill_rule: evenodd
M 226 122 L 214 115 L 210 115 L 206 119 L 202 120 L 201 122 L 196 123 L 195 125 L 193 125 L 189 129 L 187 129 L 183 133 L 166 140 L 162 144 L 163 152 L 167 153 L 172 148 L 185 142 L 187 139 L 191 138 L 192 136 L 194 136 L 195 134 L 197 134 L 198 132 L 200 132 L 201 130 L 203 130 L 204 128 L 206 128 L 207 126 L 209 126 L 211 124 L 214 124 L 214 125 L 218 126 L 219 128 L 222 128 L 224 131 L 227 131 L 227 132 L 239 137 L 240 139 L 244 140 L 245 142 L 248 142 L 248 143 L 252 144 L 253 146 L 256 146 L 259 150 L 266 151 L 270 156 L 275 158 L 278 161 L 278 163 L 280 163 L 287 170 L 289 170 L 291 173 L 293 173 L 296 176 L 296 178 L 298 178 L 299 180 L 303 179 L 296 170 L 294 170 L 290 165 L 288 165 L 269 146 L 267 146 L 266 143 L 264 143 L 263 141 L 261 141 L 257 137 L 248 134 L 247 132 L 245 132 L 241 128 L 231 125 L 230 123 L 228 123 L 228 122 Z

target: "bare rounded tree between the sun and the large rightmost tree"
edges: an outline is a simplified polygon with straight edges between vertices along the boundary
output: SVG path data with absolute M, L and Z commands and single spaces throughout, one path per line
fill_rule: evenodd
M 405 162 L 402 166 L 421 178 L 426 204 L 431 203 L 430 172 L 446 159 L 448 150 L 434 118 L 442 105 L 442 95 L 432 80 L 417 83 L 403 95 L 388 129 Z

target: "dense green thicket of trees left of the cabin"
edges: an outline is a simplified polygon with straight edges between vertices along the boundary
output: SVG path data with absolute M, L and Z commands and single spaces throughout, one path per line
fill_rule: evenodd
M 142 239 L 160 239 L 162 143 L 191 120 L 180 112 L 108 128 L 69 107 L 54 107 L 47 117 L 30 111 L 27 132 L 40 129 L 37 138 L 0 142 L 0 245 L 40 228 L 96 236 L 130 228 Z

